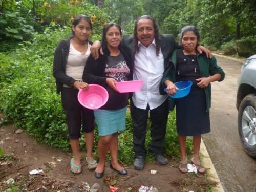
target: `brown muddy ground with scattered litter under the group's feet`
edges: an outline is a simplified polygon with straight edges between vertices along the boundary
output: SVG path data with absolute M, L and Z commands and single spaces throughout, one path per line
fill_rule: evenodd
M 105 177 L 96 179 L 94 172 L 87 169 L 86 161 L 82 161 L 82 173 L 70 172 L 70 156 L 57 148 L 37 143 L 28 133 L 14 133 L 12 125 L 0 127 L 0 147 L 5 156 L 0 156 L 0 191 L 10 188 L 4 183 L 13 178 L 18 191 L 86 191 L 84 185 L 100 184 L 98 191 L 110 191 L 108 185 L 119 186 L 119 191 L 138 191 L 141 185 L 153 186 L 158 191 L 202 191 L 214 185 L 206 179 L 207 174 L 182 174 L 178 163 L 169 159 L 169 163 L 160 166 L 155 162 L 146 163 L 142 171 L 126 165 L 129 174 L 118 177 L 106 162 Z M 82 152 L 84 159 L 85 153 Z M 29 171 L 40 168 L 44 173 L 30 175 Z M 150 170 L 157 170 L 151 174 Z

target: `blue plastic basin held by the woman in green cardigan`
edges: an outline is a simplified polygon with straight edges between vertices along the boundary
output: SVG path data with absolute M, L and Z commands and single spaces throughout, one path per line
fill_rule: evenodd
M 189 94 L 193 83 L 192 81 L 180 81 L 174 84 L 180 90 L 177 90 L 175 95 L 169 95 L 169 94 L 168 95 L 174 99 L 178 99 L 178 98 L 185 97 Z M 164 91 L 166 92 L 166 88 L 164 88 Z

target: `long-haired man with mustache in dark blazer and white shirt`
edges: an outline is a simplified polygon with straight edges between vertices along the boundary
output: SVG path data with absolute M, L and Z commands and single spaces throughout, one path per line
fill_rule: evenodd
M 144 167 L 148 113 L 152 138 L 150 150 L 155 154 L 156 161 L 164 165 L 168 162 L 162 153 L 169 109 L 168 96 L 160 82 L 168 74 L 171 66 L 168 58 L 178 45 L 173 35 L 160 35 L 155 20 L 146 15 L 137 19 L 134 35 L 125 35 L 122 43 L 134 59 L 134 80 L 144 81 L 142 89 L 133 93 L 131 98 L 134 168 L 142 170 Z

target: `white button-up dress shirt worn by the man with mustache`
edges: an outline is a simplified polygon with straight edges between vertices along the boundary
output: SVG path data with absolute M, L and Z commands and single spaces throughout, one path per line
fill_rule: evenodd
M 134 80 L 143 80 L 140 91 L 133 93 L 133 104 L 140 109 L 146 109 L 147 103 L 153 110 L 160 106 L 167 95 L 160 95 L 159 86 L 164 72 L 164 58 L 160 48 L 159 56 L 156 56 L 156 42 L 145 47 L 139 42 L 139 53 L 136 52 L 134 60 Z

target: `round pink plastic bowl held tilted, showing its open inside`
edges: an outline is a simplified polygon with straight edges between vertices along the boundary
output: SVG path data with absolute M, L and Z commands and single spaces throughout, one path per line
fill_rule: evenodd
M 81 89 L 77 95 L 79 103 L 85 108 L 96 110 L 101 108 L 109 99 L 105 88 L 98 84 L 89 84 L 88 90 Z

